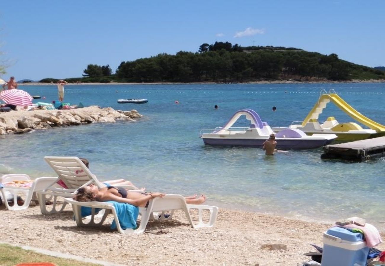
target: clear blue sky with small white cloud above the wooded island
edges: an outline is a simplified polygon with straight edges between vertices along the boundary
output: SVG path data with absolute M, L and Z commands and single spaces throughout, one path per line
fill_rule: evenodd
M 385 65 L 383 0 L 2 0 L 0 63 L 16 80 L 82 76 L 88 64 L 198 52 L 203 43 L 296 47 Z

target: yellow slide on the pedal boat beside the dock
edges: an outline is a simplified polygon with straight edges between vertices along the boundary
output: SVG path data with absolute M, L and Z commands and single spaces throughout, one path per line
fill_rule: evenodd
M 306 116 L 305 120 L 302 123 L 302 126 L 305 126 L 310 119 L 318 119 L 320 113 L 322 113 L 323 108 L 326 107 L 326 104 L 332 101 L 338 108 L 344 111 L 347 115 L 349 115 L 354 120 L 362 123 L 365 126 L 368 126 L 370 129 L 375 130 L 377 132 L 384 132 L 385 126 L 367 118 L 362 115 L 360 112 L 355 110 L 352 106 L 350 106 L 346 101 L 344 101 L 340 96 L 336 93 L 328 93 L 320 96 L 318 102 L 314 105 L 313 109 Z

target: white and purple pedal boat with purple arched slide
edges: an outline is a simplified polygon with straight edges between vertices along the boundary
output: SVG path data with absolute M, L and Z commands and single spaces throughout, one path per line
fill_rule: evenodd
M 246 127 L 233 127 L 234 123 L 246 116 L 250 125 Z M 245 146 L 262 148 L 264 141 L 274 133 L 267 122 L 262 122 L 256 111 L 243 109 L 236 111 L 223 127 L 214 130 L 201 130 L 201 138 L 205 145 L 221 146 Z M 320 148 L 330 144 L 337 135 L 335 134 L 313 134 L 306 135 L 296 128 L 287 128 L 275 134 L 276 148 L 279 150 L 301 150 Z

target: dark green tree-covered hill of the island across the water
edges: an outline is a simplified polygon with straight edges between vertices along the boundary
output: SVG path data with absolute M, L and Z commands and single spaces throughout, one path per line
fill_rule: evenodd
M 385 72 L 298 48 L 203 43 L 198 52 L 166 53 L 122 62 L 115 75 L 109 65 L 89 64 L 82 82 L 248 82 L 260 80 L 325 81 L 384 79 Z M 50 82 L 50 79 L 44 80 Z M 44 82 L 42 81 L 42 82 Z

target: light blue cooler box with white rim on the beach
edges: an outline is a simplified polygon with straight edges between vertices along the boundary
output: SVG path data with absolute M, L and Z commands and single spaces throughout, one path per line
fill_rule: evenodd
M 365 266 L 368 253 L 360 233 L 333 227 L 323 234 L 321 266 Z

